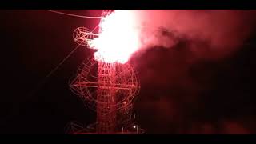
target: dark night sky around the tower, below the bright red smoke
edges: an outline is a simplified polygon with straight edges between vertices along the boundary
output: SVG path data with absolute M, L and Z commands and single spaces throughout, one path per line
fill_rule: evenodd
M 44 10 L 1 10 L 0 18 L 1 134 L 64 134 L 70 121 L 94 122 L 94 114 L 68 86 L 90 50 L 76 50 L 44 85 L 36 86 L 74 50 L 73 30 L 92 29 L 98 21 Z M 186 38 L 172 49 L 152 47 L 134 54 L 130 62 L 141 80 L 134 110 L 146 133 L 255 134 L 255 34 L 252 31 L 237 51 L 219 60 L 191 62 L 190 44 L 208 45 Z

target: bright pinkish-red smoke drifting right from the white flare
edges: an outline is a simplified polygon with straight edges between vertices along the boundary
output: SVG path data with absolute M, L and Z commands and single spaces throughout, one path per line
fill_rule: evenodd
M 200 40 L 210 46 L 192 46 L 197 54 L 222 58 L 248 38 L 255 10 L 133 10 L 141 29 L 142 46 L 170 48 L 181 39 Z M 208 49 L 208 50 L 205 50 Z M 209 54 L 207 54 L 209 55 Z

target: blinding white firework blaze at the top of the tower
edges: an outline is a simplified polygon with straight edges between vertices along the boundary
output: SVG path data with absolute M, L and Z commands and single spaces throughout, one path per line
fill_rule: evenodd
M 98 38 L 90 42 L 90 48 L 98 61 L 125 63 L 139 48 L 139 30 L 131 10 L 115 10 L 102 18 Z

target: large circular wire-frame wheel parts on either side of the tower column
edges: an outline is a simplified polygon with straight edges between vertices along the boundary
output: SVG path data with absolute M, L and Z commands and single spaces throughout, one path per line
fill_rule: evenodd
M 134 97 L 139 91 L 138 74 L 129 63 L 115 63 L 116 73 L 115 83 L 112 83 L 111 89 L 115 90 L 116 108 L 119 113 L 128 113 L 131 109 Z M 82 98 L 85 105 L 92 110 L 96 110 L 96 104 L 101 102 L 97 99 L 97 68 L 98 62 L 94 58 L 87 58 L 86 62 L 78 70 L 78 75 L 70 82 L 70 88 L 74 94 Z

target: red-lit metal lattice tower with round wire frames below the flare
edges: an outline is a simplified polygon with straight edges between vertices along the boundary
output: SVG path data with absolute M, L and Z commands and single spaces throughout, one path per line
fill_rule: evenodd
M 103 10 L 102 17 L 110 13 L 111 10 Z M 79 45 L 87 46 L 98 34 L 79 27 L 73 36 Z M 101 55 L 87 58 L 76 78 L 70 82 L 70 88 L 86 106 L 96 111 L 96 123 L 86 128 L 78 126 L 71 133 L 142 134 L 144 130 L 134 123 L 135 114 L 132 112 L 139 87 L 138 74 L 129 63 L 106 62 Z

